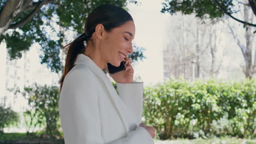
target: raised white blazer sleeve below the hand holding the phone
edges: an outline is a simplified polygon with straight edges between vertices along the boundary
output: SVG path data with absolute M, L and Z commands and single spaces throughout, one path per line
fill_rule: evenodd
M 135 114 L 137 125 L 143 112 L 143 82 L 117 83 L 119 97 Z

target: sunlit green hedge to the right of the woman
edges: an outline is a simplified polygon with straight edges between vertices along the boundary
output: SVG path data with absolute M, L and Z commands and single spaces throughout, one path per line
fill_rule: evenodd
M 170 78 L 144 87 L 145 123 L 158 138 L 239 136 L 255 138 L 256 82 L 195 81 Z

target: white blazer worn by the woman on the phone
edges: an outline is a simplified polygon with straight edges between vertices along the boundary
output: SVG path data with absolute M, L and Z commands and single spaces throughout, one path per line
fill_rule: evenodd
M 79 54 L 63 81 L 59 112 L 66 144 L 152 144 L 138 126 L 143 82 L 117 83 L 118 93 L 94 61 Z

